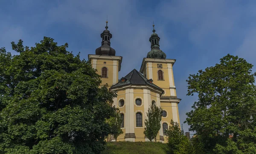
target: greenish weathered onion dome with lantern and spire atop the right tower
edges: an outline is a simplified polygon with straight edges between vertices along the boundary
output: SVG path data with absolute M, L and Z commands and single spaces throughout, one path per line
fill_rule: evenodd
M 151 51 L 148 52 L 147 58 L 166 59 L 166 54 L 159 48 L 159 41 L 160 37 L 155 33 L 153 22 L 153 34 L 151 34 L 151 37 L 149 38 L 149 42 L 151 42 Z

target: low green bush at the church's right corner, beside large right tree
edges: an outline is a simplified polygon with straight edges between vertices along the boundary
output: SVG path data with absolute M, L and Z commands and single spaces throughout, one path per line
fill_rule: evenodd
M 188 138 L 184 135 L 183 130 L 180 129 L 179 123 L 171 120 L 169 129 L 166 130 L 168 146 L 172 154 L 191 154 L 192 146 Z

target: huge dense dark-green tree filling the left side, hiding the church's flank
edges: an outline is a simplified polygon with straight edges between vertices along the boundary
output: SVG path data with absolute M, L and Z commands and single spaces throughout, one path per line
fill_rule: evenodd
M 12 48 L 0 49 L 0 153 L 100 153 L 116 94 L 96 70 L 49 37 Z

